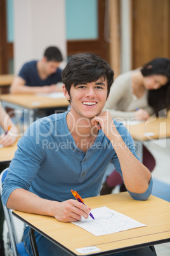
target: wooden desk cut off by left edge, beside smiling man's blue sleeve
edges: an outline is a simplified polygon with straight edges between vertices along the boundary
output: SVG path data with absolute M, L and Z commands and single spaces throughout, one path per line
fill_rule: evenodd
M 0 164 L 4 162 L 11 162 L 17 149 L 17 142 L 13 146 L 4 146 L 0 148 Z

